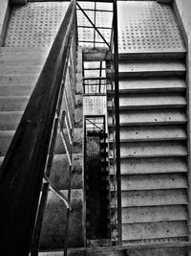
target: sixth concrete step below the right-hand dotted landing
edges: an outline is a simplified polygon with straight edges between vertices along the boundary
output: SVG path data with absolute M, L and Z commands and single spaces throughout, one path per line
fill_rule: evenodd
M 121 158 L 186 156 L 185 144 L 180 141 L 128 142 L 120 144 Z

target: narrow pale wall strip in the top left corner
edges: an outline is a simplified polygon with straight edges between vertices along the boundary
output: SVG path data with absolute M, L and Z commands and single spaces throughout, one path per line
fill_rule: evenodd
M 4 36 L 6 33 L 7 23 L 10 14 L 9 0 L 1 0 L 0 3 L 0 46 L 2 46 L 4 41 Z

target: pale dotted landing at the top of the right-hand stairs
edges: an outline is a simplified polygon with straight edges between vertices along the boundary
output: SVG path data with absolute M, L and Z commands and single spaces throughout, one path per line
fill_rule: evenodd
M 171 6 L 156 1 L 118 2 L 118 44 L 121 53 L 184 50 Z

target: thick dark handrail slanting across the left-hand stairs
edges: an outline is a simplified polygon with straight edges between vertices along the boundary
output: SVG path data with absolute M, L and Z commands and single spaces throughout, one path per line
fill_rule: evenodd
M 75 10 L 72 0 L 1 166 L 0 241 L 4 256 L 25 256 L 30 252 Z

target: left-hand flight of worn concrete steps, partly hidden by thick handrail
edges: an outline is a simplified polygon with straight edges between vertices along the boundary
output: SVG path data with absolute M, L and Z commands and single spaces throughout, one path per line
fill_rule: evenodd
M 32 89 L 47 58 L 49 48 L 0 48 L 0 165 L 11 143 Z M 78 49 L 77 77 L 81 74 L 82 51 Z M 82 232 L 82 83 L 77 81 L 75 96 L 74 168 L 72 173 L 72 212 L 69 246 L 83 245 Z M 56 138 L 51 179 L 67 193 L 69 163 L 58 134 Z M 60 198 L 49 192 L 42 226 L 40 247 L 63 248 L 65 241 L 66 207 Z

